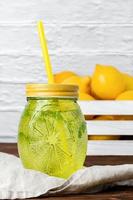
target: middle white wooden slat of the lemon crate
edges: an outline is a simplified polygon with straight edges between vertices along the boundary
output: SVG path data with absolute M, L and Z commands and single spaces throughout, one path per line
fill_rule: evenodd
M 133 121 L 86 121 L 88 135 L 133 135 Z

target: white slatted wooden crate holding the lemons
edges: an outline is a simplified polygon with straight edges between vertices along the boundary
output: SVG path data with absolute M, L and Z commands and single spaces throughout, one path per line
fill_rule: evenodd
M 133 101 L 79 101 L 84 115 L 133 115 Z M 88 135 L 132 135 L 133 121 L 86 120 Z M 133 140 L 88 141 L 87 155 L 133 155 Z

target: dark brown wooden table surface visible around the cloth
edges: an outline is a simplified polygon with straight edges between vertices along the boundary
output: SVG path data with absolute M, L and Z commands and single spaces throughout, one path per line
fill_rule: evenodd
M 0 152 L 11 153 L 18 155 L 16 144 L 1 144 Z M 90 165 L 114 165 L 114 164 L 133 164 L 133 156 L 88 156 L 85 161 L 86 166 Z M 45 197 L 34 198 L 34 200 L 133 200 L 133 188 L 132 187 L 117 187 L 109 189 L 108 191 L 100 192 L 97 194 L 82 194 L 82 195 L 67 195 L 59 197 Z M 33 200 L 33 199 L 31 199 Z

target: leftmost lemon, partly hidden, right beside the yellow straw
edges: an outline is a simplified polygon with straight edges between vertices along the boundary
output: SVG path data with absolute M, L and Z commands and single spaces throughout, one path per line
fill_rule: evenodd
M 62 83 L 65 79 L 76 75 L 74 72 L 71 71 L 63 71 L 57 74 L 54 74 L 54 81 L 55 83 Z

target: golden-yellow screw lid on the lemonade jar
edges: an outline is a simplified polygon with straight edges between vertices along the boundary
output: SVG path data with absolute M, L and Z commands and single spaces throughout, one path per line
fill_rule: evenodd
M 27 97 L 78 98 L 78 86 L 63 84 L 27 84 Z

